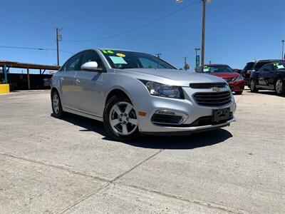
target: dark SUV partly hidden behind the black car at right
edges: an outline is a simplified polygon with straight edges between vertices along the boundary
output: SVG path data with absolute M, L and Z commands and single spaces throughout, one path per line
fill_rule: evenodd
M 267 63 L 277 62 L 277 61 L 282 61 L 282 60 L 264 59 L 264 60 L 248 62 L 247 65 L 244 67 L 244 69 L 242 69 L 242 76 L 244 78 L 246 86 L 249 86 L 249 88 L 250 88 L 249 79 L 250 79 L 251 74 L 254 73 L 254 71 L 258 71 L 259 68 L 266 65 Z

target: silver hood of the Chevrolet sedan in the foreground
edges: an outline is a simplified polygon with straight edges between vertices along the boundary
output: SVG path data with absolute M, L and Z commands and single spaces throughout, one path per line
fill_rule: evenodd
M 173 86 L 189 86 L 190 83 L 224 82 L 222 78 L 216 76 L 175 69 L 128 68 L 115 69 L 115 72 L 132 76 L 133 78 L 155 81 Z

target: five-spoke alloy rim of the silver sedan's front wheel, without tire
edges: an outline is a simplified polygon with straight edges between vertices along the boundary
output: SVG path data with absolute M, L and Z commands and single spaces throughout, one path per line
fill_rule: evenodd
M 135 109 L 127 102 L 115 103 L 110 110 L 109 121 L 113 131 L 123 136 L 130 135 L 138 127 Z

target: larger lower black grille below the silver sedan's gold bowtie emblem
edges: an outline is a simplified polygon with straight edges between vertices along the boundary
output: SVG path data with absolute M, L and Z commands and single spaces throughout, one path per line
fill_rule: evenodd
M 229 91 L 195 93 L 193 98 L 200 106 L 224 106 L 232 101 Z

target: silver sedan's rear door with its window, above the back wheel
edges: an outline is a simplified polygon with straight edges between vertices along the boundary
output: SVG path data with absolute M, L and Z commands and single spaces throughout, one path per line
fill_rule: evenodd
M 83 54 L 79 53 L 71 57 L 64 66 L 64 71 L 59 78 L 61 90 L 61 102 L 66 108 L 74 108 L 74 96 L 77 88 L 74 86 L 74 77 L 81 64 Z

